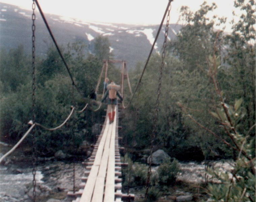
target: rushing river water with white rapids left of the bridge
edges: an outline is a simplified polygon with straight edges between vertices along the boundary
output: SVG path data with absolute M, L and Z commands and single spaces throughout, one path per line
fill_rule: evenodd
M 84 167 L 81 162 L 75 163 L 75 185 L 79 186 Z M 0 201 L 1 202 L 31 202 L 32 168 L 18 165 L 1 166 L 0 168 Z M 40 201 L 49 198 L 64 199 L 68 191 L 73 189 L 73 164 L 65 162 L 46 162 L 37 166 L 36 195 Z

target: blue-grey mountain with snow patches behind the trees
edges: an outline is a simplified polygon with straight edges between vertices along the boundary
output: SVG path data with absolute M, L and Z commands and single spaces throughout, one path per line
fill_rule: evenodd
M 9 49 L 24 46 L 27 53 L 32 51 L 32 9 L 24 10 L 17 6 L 0 4 L 0 45 Z M 126 60 L 128 68 L 133 68 L 138 61 L 145 62 L 154 42 L 159 25 L 139 26 L 126 24 L 110 24 L 99 22 L 82 22 L 53 14 L 45 14 L 45 18 L 59 46 L 82 40 L 87 44 L 88 52 L 93 53 L 93 40 L 98 35 L 107 36 L 110 42 L 109 51 L 114 59 Z M 39 12 L 36 12 L 36 55 L 43 56 L 53 44 L 50 34 Z M 169 27 L 168 40 L 175 38 L 181 25 Z M 162 32 L 155 45 L 155 51 L 161 50 L 164 39 Z

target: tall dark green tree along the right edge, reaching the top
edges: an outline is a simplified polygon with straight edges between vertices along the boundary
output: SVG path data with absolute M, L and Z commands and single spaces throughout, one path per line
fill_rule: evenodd
M 226 92 L 231 92 L 227 100 L 243 98 L 247 111 L 244 127 L 248 130 L 255 124 L 255 1 L 236 0 L 234 6 L 245 13 L 237 23 L 233 21 L 233 31 L 225 37 L 229 68 L 221 73 L 231 79 L 221 82 L 226 84 Z

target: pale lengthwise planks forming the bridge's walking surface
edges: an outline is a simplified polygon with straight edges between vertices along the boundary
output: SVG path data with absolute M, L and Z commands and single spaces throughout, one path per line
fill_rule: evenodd
M 104 131 L 101 132 L 100 142 L 97 143 L 97 151 L 95 149 L 95 157 L 92 158 L 94 161 L 90 161 L 93 165 L 88 166 L 91 170 L 80 202 L 115 201 L 115 182 L 117 182 L 115 172 L 120 175 L 115 168 L 116 162 L 120 158 L 116 156 L 116 153 L 118 153 L 118 143 L 116 142 L 117 115 L 113 124 L 109 125 L 109 120 L 107 117 L 106 119 Z M 122 185 L 118 187 L 122 188 Z M 119 200 L 117 199 L 117 201 Z

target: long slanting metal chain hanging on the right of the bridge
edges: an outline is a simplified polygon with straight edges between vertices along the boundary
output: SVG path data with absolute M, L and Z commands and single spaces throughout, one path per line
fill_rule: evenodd
M 158 89 L 157 89 L 156 108 L 155 108 L 154 119 L 153 119 L 153 130 L 152 130 L 152 134 L 151 134 L 151 137 L 150 137 L 151 145 L 150 145 L 148 177 L 147 177 L 147 182 L 146 182 L 147 187 L 146 187 L 146 193 L 145 193 L 145 200 L 146 201 L 148 199 L 148 191 L 149 191 L 149 186 L 150 186 L 153 144 L 154 144 L 154 141 L 155 141 L 155 138 L 156 138 L 157 116 L 158 116 L 158 113 L 159 113 L 159 98 L 160 98 L 160 94 L 161 94 L 162 75 L 163 75 L 164 60 L 165 60 L 165 48 L 166 48 L 166 41 L 167 41 L 169 21 L 170 21 L 170 10 L 171 10 L 171 5 L 169 5 L 167 20 L 166 20 L 164 43 L 163 43 L 163 52 L 162 52 L 162 63 L 161 63 L 161 66 L 160 66 L 160 75 L 159 75 L 159 83 L 158 83 Z

